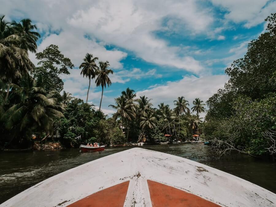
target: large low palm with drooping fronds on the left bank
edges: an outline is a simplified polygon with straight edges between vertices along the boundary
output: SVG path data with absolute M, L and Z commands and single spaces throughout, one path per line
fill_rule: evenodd
M 17 90 L 21 101 L 10 107 L 6 113 L 9 119 L 7 129 L 18 128 L 18 132 L 34 129 L 51 132 L 56 117 L 63 116 L 64 108 L 58 103 L 56 91 L 48 94 L 29 74 L 25 74 Z

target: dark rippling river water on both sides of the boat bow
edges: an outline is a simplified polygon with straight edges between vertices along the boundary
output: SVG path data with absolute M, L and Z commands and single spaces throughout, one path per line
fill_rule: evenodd
M 240 155 L 229 155 L 219 161 L 195 158 L 194 155 L 207 155 L 208 148 L 202 144 L 145 145 L 143 148 L 190 157 L 191 160 L 236 175 L 276 193 L 275 163 Z M 79 149 L 1 152 L 0 203 L 53 175 L 126 149 L 130 147 L 110 147 L 102 152 L 87 153 L 80 153 Z

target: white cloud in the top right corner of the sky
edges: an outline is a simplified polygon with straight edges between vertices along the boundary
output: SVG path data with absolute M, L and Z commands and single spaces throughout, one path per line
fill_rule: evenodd
M 260 24 L 276 10 L 276 2 L 270 0 L 211 0 L 215 6 L 228 11 L 227 20 L 235 23 L 245 22 L 244 26 L 250 28 Z

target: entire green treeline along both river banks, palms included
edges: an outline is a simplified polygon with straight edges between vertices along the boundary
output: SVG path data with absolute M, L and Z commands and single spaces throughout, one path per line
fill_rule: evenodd
M 36 53 L 40 34 L 29 19 L 6 22 L 0 17 L 0 145 L 25 147 L 36 141 L 55 140 L 63 145 L 86 142 L 118 144 L 147 137 L 157 143 L 164 134 L 187 140 L 200 134 L 210 148 L 220 154 L 238 150 L 252 155 L 276 152 L 276 14 L 265 20 L 267 30 L 252 40 L 243 58 L 225 70 L 229 81 L 224 89 L 207 101 L 205 112 L 200 98 L 188 103 L 179 94 L 174 107 L 160 103 L 154 108 L 150 97 L 137 97 L 127 88 L 109 105 L 116 110 L 108 118 L 88 102 L 89 89 L 96 84 L 102 90 L 112 82 L 109 62 L 87 53 L 79 66 L 87 78 L 86 102 L 63 91 L 61 75 L 69 75 L 75 66 L 49 45 Z M 29 59 L 36 53 L 38 65 Z M 98 62 L 98 63 L 97 63 Z M 55 135 L 58 133 L 58 138 Z

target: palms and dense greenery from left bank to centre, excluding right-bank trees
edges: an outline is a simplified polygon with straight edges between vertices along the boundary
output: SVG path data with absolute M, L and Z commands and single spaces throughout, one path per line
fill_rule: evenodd
M 102 89 L 111 85 L 109 62 L 98 62 L 98 57 L 87 53 L 79 66 L 80 75 L 89 80 L 86 103 L 75 99 L 63 90 L 60 75 L 70 74 L 74 67 L 71 60 L 49 45 L 36 53 L 36 41 L 40 34 L 29 19 L 6 22 L 0 17 L 0 146 L 29 147 L 34 141 L 60 141 L 64 146 L 98 141 L 103 144 L 119 144 L 140 141 L 144 135 L 149 141 L 166 140 L 164 133 L 174 133 L 185 139 L 198 133 L 198 114 L 204 111 L 199 99 L 194 101 L 190 115 L 184 97 L 175 101 L 174 110 L 161 103 L 152 108 L 150 99 L 127 88 L 115 99 L 117 109 L 112 118 L 88 104 L 91 80 Z M 29 59 L 29 52 L 36 53 L 38 66 Z M 174 119 L 176 121 L 174 122 Z M 190 122 L 188 123 L 188 120 Z

